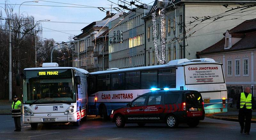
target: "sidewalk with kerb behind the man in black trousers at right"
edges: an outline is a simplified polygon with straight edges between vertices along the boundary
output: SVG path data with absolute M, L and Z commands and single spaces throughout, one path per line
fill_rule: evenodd
M 226 113 L 218 113 L 218 114 L 214 114 L 209 117 L 214 118 L 214 119 L 219 119 L 219 120 L 238 122 L 238 109 L 228 108 L 228 112 L 226 112 Z M 255 110 L 252 112 L 252 123 L 256 123 L 256 111 Z

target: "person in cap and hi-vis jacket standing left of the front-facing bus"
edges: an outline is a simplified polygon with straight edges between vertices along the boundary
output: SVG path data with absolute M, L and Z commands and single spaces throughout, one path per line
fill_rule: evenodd
M 21 102 L 18 100 L 18 96 L 14 95 L 13 96 L 13 102 L 12 102 L 12 117 L 14 119 L 15 123 L 15 130 L 14 131 L 20 131 L 21 130 L 21 124 L 20 124 L 20 107 L 21 107 Z

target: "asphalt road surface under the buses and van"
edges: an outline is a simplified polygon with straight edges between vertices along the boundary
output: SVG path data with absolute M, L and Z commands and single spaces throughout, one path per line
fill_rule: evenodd
M 256 124 L 251 125 L 251 135 L 240 134 L 238 122 L 214 120 L 205 118 L 196 128 L 187 124 L 180 124 L 177 129 L 168 129 L 164 123 L 146 124 L 139 127 L 137 124 L 126 124 L 124 128 L 117 128 L 114 122 L 102 119 L 91 119 L 82 122 L 79 127 L 72 124 L 39 124 L 36 130 L 31 130 L 29 124 L 22 124 L 21 132 L 14 132 L 14 122 L 11 115 L 0 115 L 1 140 L 48 140 L 48 139 L 189 139 L 189 140 L 255 140 Z

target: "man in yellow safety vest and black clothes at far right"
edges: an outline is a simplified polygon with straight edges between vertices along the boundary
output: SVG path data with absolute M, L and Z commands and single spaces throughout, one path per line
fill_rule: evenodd
M 250 135 L 252 109 L 254 109 L 254 98 L 250 93 L 249 87 L 246 87 L 244 89 L 244 92 L 242 92 L 240 96 L 238 96 L 236 108 L 239 109 L 238 120 L 241 126 L 240 133 L 243 133 L 244 131 L 246 135 Z

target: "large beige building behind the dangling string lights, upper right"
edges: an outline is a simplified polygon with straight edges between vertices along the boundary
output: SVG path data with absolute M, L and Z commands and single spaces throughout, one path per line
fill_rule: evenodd
M 170 0 L 168 0 L 170 1 Z M 255 1 L 175 0 L 155 1 L 145 20 L 146 66 L 157 65 L 152 40 L 152 13 L 156 12 L 158 47 L 160 48 L 159 10 L 165 8 L 165 56 L 166 62 L 174 59 L 196 59 L 196 52 L 204 50 L 222 38 L 222 33 L 246 19 L 252 19 Z M 175 17 L 176 9 L 176 17 Z M 175 23 L 176 18 L 176 23 Z M 176 31 L 175 31 L 176 30 Z M 175 37 L 177 32 L 177 38 Z M 176 43 L 177 42 L 177 43 Z

